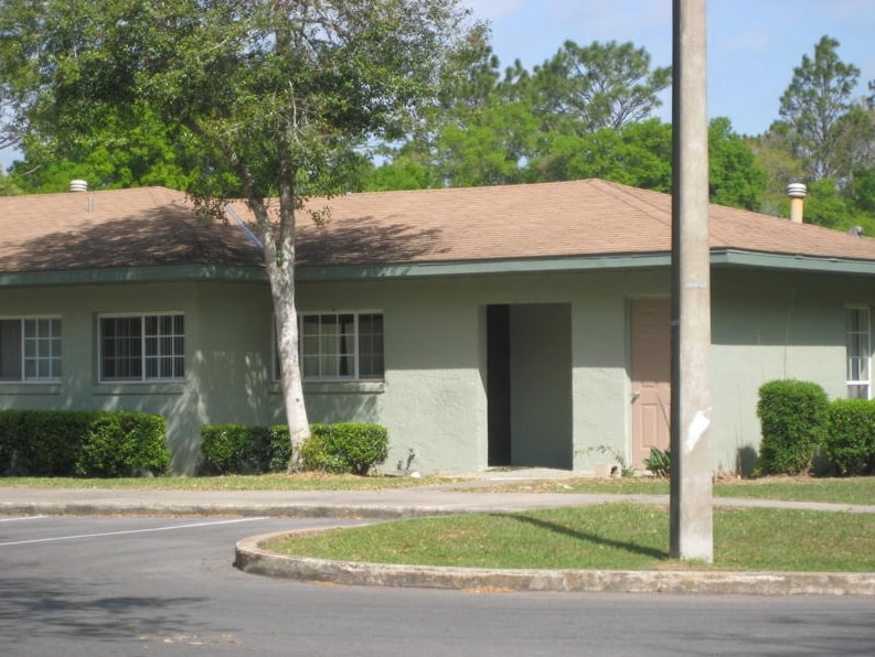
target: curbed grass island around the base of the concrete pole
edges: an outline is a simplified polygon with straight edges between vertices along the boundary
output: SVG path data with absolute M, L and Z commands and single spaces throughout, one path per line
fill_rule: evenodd
M 696 568 L 875 571 L 875 515 L 715 509 L 714 564 Z M 659 570 L 669 558 L 669 513 L 631 503 L 417 518 L 276 539 L 267 549 L 342 561 Z

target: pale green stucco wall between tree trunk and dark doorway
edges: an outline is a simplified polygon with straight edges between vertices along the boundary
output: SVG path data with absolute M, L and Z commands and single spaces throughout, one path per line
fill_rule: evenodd
M 307 385 L 311 421 L 364 417 L 386 426 L 385 467 L 474 472 L 487 464 L 487 397 L 480 309 L 465 286 L 429 281 L 319 283 L 299 288 L 301 311 L 384 314 L 384 384 Z M 363 411 L 363 412 L 362 412 Z

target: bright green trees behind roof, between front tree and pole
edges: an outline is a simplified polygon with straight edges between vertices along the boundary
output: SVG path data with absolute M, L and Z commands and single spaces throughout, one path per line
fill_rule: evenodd
M 534 72 L 516 61 L 503 74 L 487 43 L 467 55 L 460 75 L 445 79 L 429 129 L 381 168 L 384 181 L 398 174 L 405 185 L 474 186 L 604 176 L 664 187 L 669 160 L 657 163 L 652 144 L 637 148 L 632 137 L 602 133 L 642 122 L 660 104 L 670 72 L 651 72 L 643 49 L 566 42 Z M 422 174 L 428 166 L 436 177 Z

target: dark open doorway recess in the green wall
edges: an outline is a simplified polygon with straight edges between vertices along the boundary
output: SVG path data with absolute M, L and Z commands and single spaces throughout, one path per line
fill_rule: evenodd
M 490 466 L 572 470 L 572 311 L 487 306 Z

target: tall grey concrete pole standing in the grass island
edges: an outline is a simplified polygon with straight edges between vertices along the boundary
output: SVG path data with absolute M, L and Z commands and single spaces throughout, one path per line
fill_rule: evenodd
M 714 561 L 705 0 L 674 0 L 671 556 Z

